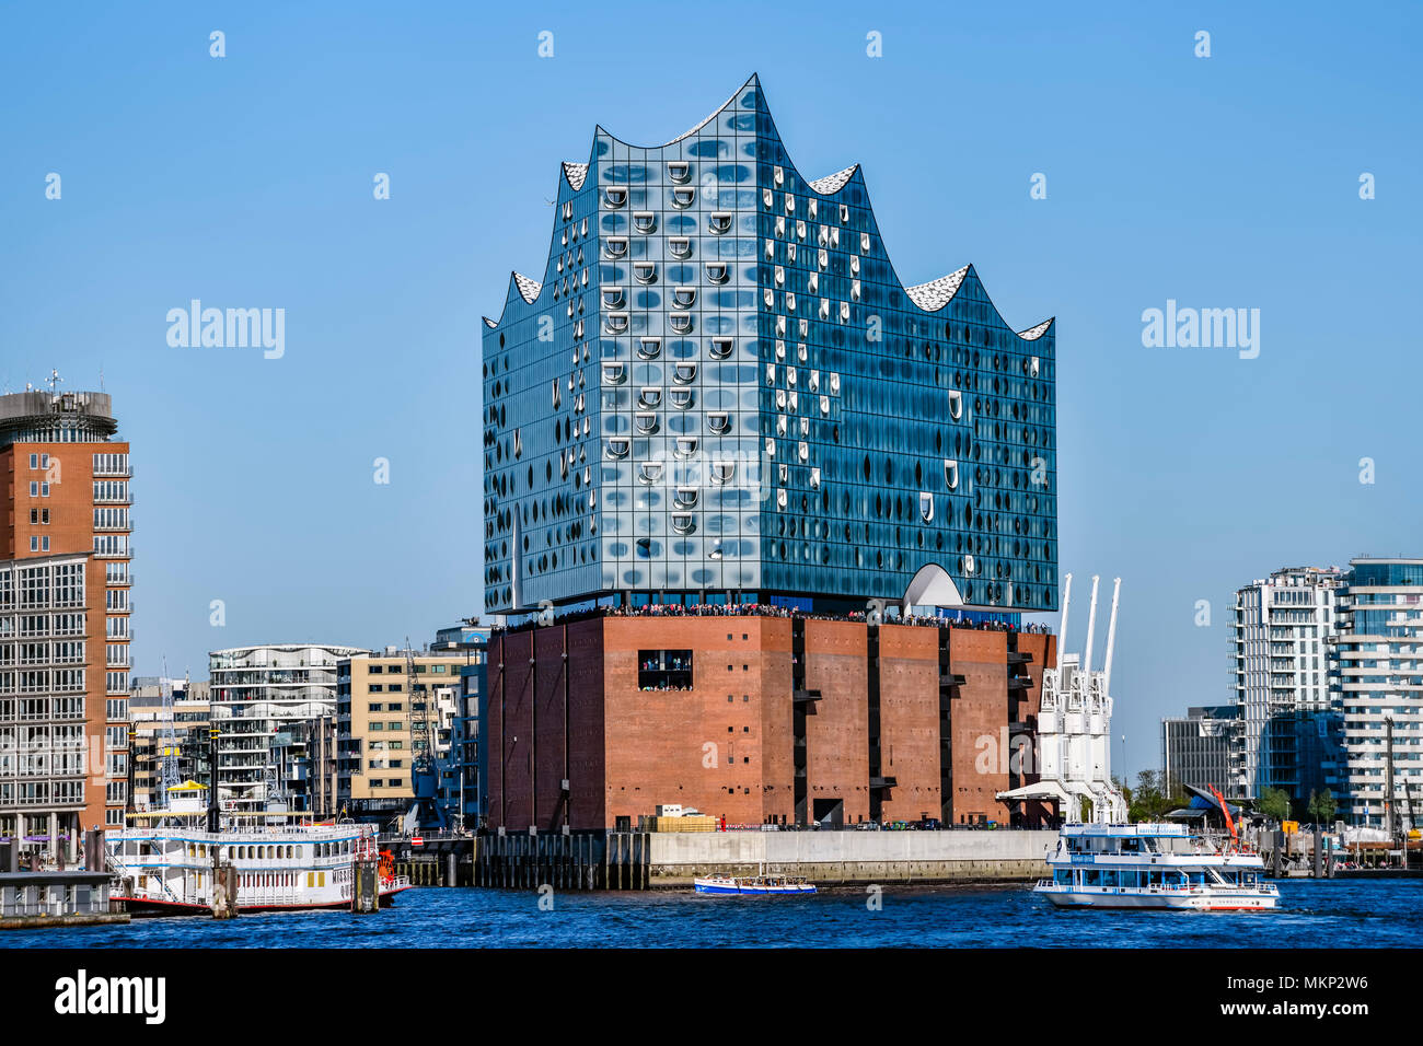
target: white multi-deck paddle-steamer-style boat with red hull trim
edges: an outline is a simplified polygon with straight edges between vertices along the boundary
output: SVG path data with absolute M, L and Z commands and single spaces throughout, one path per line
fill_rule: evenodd
M 357 857 L 377 861 L 381 907 L 410 888 L 390 852 L 377 855 L 371 825 L 253 823 L 211 833 L 198 818 L 168 817 L 105 833 L 104 842 L 111 899 L 132 915 L 209 914 L 216 862 L 233 867 L 239 912 L 350 908 Z

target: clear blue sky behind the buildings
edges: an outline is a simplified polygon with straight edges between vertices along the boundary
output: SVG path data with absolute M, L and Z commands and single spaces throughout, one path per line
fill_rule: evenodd
M 1131 771 L 1154 767 L 1163 714 L 1229 697 L 1238 585 L 1423 555 L 1420 23 L 1413 4 L 10 6 L 0 381 L 102 371 L 134 444 L 139 673 L 205 677 L 206 650 L 248 642 L 427 639 L 480 611 L 480 317 L 509 269 L 542 270 L 558 161 L 586 159 L 598 122 L 663 142 L 758 73 L 807 175 L 864 165 L 905 282 L 973 262 L 1010 323 L 1057 316 L 1062 568 L 1083 609 L 1093 572 L 1123 578 L 1116 733 Z M 169 347 L 192 297 L 285 309 L 285 356 Z M 1168 299 L 1259 309 L 1258 359 L 1143 347 Z M 1074 613 L 1069 646 L 1084 632 Z

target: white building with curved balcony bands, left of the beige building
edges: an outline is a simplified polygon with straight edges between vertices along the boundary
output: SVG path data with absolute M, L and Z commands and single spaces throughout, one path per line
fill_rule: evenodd
M 320 720 L 336 714 L 336 665 L 361 652 L 268 643 L 208 655 L 223 811 L 310 808 L 310 753 Z

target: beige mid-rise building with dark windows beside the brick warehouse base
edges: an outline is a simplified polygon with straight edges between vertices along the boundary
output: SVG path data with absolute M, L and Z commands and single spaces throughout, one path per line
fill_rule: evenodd
M 377 823 L 408 814 L 416 801 L 411 770 L 428 750 L 441 793 L 437 804 L 447 823 L 457 818 L 453 756 L 458 751 L 455 722 L 464 714 L 460 672 L 467 657 L 458 645 L 447 643 L 423 650 L 387 646 L 339 662 L 336 794 L 342 811 Z M 424 730 L 421 722 L 428 724 Z

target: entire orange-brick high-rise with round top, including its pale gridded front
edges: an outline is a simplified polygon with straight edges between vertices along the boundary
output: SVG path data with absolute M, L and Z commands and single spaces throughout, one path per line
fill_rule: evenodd
M 104 393 L 0 396 L 0 564 L 16 585 L 0 602 L 0 740 L 11 746 L 0 757 L 0 835 L 44 835 L 40 850 L 63 842 L 73 852 L 73 828 L 121 825 L 127 801 L 132 497 L 117 430 Z M 74 562 L 81 596 L 41 605 L 18 588 L 41 576 L 27 564 Z M 75 722 L 85 737 L 78 796 Z M 37 790 L 40 781 L 54 787 Z

